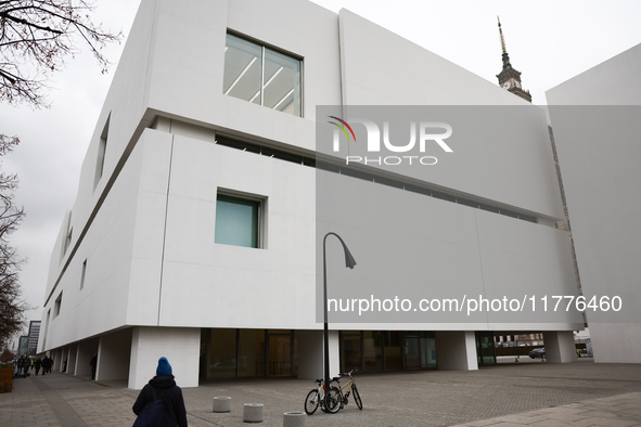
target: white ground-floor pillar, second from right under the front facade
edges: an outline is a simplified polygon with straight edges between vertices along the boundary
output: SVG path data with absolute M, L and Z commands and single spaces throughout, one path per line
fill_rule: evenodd
M 478 370 L 474 331 L 437 331 L 436 357 L 439 370 Z

